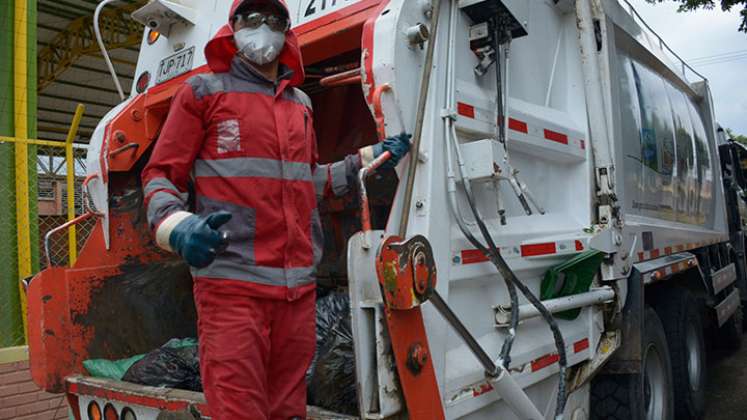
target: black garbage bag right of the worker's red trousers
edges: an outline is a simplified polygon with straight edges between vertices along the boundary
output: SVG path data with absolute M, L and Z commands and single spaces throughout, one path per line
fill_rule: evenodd
M 350 298 L 330 292 L 317 300 L 317 351 L 309 370 L 309 403 L 340 414 L 358 413 Z

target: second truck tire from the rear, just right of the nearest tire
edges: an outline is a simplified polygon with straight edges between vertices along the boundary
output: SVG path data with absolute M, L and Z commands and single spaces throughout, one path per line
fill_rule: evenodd
M 669 345 L 675 415 L 695 420 L 705 415 L 706 349 L 701 305 L 687 289 L 675 287 L 655 305 Z

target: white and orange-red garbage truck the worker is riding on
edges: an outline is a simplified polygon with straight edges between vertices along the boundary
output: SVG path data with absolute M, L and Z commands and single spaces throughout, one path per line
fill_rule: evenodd
M 140 172 L 230 3 L 132 13 L 132 91 L 91 138 L 86 213 L 47 240 L 96 227 L 74 266 L 27 281 L 32 376 L 76 419 L 210 418 L 199 392 L 83 363 L 196 336 L 189 269 L 155 245 Z M 349 298 L 355 412 L 309 418 L 703 416 L 706 343 L 741 345 L 747 287 L 745 152 L 704 77 L 626 0 L 288 4 L 320 160 L 413 134 L 396 170 L 384 155 L 318 204 L 315 275 Z

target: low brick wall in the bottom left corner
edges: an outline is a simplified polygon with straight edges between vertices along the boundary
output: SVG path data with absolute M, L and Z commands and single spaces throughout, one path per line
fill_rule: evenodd
M 61 395 L 48 394 L 31 380 L 28 360 L 0 364 L 0 420 L 67 419 Z

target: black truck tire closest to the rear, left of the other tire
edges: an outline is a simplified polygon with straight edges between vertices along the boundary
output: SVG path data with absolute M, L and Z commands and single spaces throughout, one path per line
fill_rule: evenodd
M 644 313 L 641 372 L 600 375 L 591 386 L 595 420 L 674 420 L 672 365 L 661 320 L 650 307 Z

